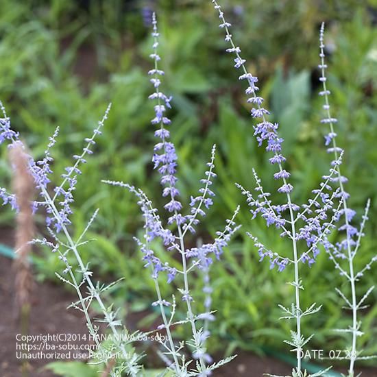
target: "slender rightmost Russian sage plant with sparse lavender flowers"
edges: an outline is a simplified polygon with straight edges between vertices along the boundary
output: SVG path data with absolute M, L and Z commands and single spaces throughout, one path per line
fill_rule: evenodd
M 364 236 L 363 231 L 365 222 L 368 219 L 367 216 L 370 206 L 370 200 L 367 201 L 360 227 L 357 229 L 352 226 L 352 219 L 354 215 L 356 215 L 356 212 L 349 208 L 348 199 L 350 197 L 350 194 L 347 193 L 344 188 L 344 184 L 348 181 L 348 179 L 341 174 L 341 167 L 335 164 L 335 161 L 339 158 L 339 154 L 343 153 L 343 149 L 341 149 L 337 145 L 337 133 L 335 132 L 334 128 L 335 123 L 337 123 L 337 119 L 333 118 L 330 112 L 330 90 L 328 90 L 326 86 L 327 66 L 325 63 L 324 27 L 325 25 L 324 23 L 322 23 L 321 30 L 319 32 L 319 58 L 321 58 L 321 64 L 319 64 L 321 77 L 319 77 L 319 81 L 322 84 L 322 90 L 319 92 L 319 95 L 321 97 L 324 97 L 323 108 L 325 111 L 325 117 L 324 119 L 321 119 L 321 123 L 328 125 L 328 133 L 325 136 L 325 145 L 327 147 L 328 153 L 333 154 L 334 156 L 332 165 L 335 166 L 336 170 L 336 175 L 332 177 L 331 182 L 339 187 L 338 195 L 342 199 L 342 208 L 339 212 L 339 214 L 341 215 L 339 221 L 341 221 L 341 223 L 340 225 L 338 225 L 338 230 L 345 232 L 342 241 L 334 244 L 330 243 L 330 241 L 326 239 L 324 246 L 326 248 L 326 252 L 329 254 L 330 260 L 332 260 L 332 262 L 335 264 L 335 268 L 339 270 L 340 275 L 347 279 L 348 283 L 350 284 L 351 297 L 346 297 L 346 295 L 338 288 L 336 288 L 336 291 L 345 301 L 346 308 L 352 311 L 352 325 L 346 329 L 337 329 L 337 331 L 345 332 L 351 335 L 350 347 L 348 347 L 348 349 L 346 350 L 344 358 L 350 361 L 348 367 L 348 377 L 353 377 L 355 375 L 354 366 L 356 360 L 365 360 L 367 358 L 376 357 L 360 356 L 361 351 L 357 349 L 357 337 L 363 335 L 363 332 L 360 330 L 361 320 L 358 319 L 358 311 L 368 307 L 364 303 L 369 294 L 372 293 L 374 286 L 367 289 L 363 297 L 358 300 L 356 295 L 356 282 L 358 282 L 363 277 L 365 271 L 371 269 L 372 264 L 377 261 L 377 256 L 373 256 L 372 259 L 360 271 L 355 271 L 354 258 L 356 258 L 356 254 L 361 245 L 361 239 Z

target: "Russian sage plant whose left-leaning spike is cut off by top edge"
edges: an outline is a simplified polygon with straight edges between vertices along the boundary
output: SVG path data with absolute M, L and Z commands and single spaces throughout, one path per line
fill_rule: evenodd
M 226 52 L 234 54 L 234 68 L 241 70 L 239 80 L 247 84 L 245 90 L 248 96 L 247 102 L 253 106 L 251 110 L 252 117 L 258 120 L 258 123 L 254 125 L 254 136 L 256 136 L 259 146 L 265 142 L 267 143 L 266 150 L 273 154 L 269 158 L 269 162 L 278 168 L 278 171 L 273 174 L 273 178 L 282 182 L 277 191 L 285 195 L 284 204 L 273 204 L 271 202 L 271 199 L 269 199 L 271 194 L 264 191 L 261 180 L 254 169 L 253 173 L 256 182 L 254 191 L 256 194 L 254 195 L 245 190 L 240 184 L 237 184 L 237 186 L 247 198 L 247 204 L 251 207 L 252 218 L 254 219 L 257 215 L 263 217 L 267 227 L 275 226 L 282 231 L 280 236 L 289 239 L 291 243 L 291 252 L 281 255 L 269 250 L 256 236 L 248 233 L 258 249 L 260 260 L 269 258 L 271 269 L 277 267 L 278 272 L 281 272 L 288 266 L 293 266 L 293 281 L 289 282 L 294 287 L 293 303 L 288 308 L 282 305 L 279 306 L 283 312 L 281 319 L 295 320 L 295 330 L 291 330 L 291 339 L 284 341 L 291 345 L 291 350 L 296 352 L 297 356 L 297 366 L 293 369 L 292 376 L 306 376 L 306 371 L 302 370 L 301 365 L 302 350 L 313 335 L 307 337 L 303 335 L 301 321 L 303 317 L 317 313 L 321 306 L 313 303 L 306 309 L 301 307 L 300 293 L 304 289 L 302 267 L 304 267 L 304 264 L 310 267 L 315 263 L 315 259 L 319 254 L 319 246 L 326 243 L 326 236 L 332 228 L 335 228 L 334 223 L 339 219 L 343 198 L 340 197 L 339 203 L 337 203 L 336 199 L 340 196 L 339 189 L 332 191 L 330 182 L 337 175 L 336 167 L 341 165 L 342 154 L 332 163 L 333 166 L 329 174 L 324 175 L 319 189 L 313 190 L 313 198 L 308 199 L 308 202 L 301 206 L 295 204 L 291 196 L 293 185 L 288 181 L 291 174 L 286 169 L 283 169 L 286 158 L 282 155 L 283 139 L 278 135 L 278 123 L 271 123 L 267 120 L 269 111 L 263 108 L 264 99 L 257 95 L 258 87 L 256 82 L 258 82 L 258 78 L 247 71 L 246 60 L 241 57 L 240 47 L 234 44 L 232 34 L 230 34 L 231 25 L 224 18 L 221 6 L 216 0 L 212 0 L 212 3 L 219 12 L 219 19 L 221 20 L 219 26 L 225 30 L 225 40 L 230 44 Z M 326 370 L 328 369 L 311 376 L 321 376 L 326 373 Z

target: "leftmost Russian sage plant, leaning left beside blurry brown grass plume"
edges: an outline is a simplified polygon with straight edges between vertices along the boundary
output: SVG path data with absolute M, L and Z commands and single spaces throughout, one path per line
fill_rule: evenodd
M 10 149 L 15 147 L 21 148 L 25 155 L 27 155 L 26 148 L 19 139 L 19 133 L 12 130 L 10 118 L 7 117 L 5 108 L 1 102 L 0 107 L 3 112 L 3 117 L 0 119 L 0 143 L 8 142 Z M 102 294 L 110 289 L 114 283 L 105 285 L 93 282 L 93 271 L 90 271 L 89 264 L 85 264 L 80 255 L 80 247 L 89 242 L 84 241 L 84 236 L 95 220 L 98 210 L 94 212 L 86 228 L 77 239 L 74 239 L 71 230 L 74 226 L 70 220 L 70 216 L 73 213 L 73 192 L 77 184 L 77 176 L 81 174 L 80 165 L 86 162 L 86 155 L 93 154 L 92 147 L 95 145 L 95 138 L 101 134 L 101 127 L 108 117 L 109 110 L 110 105 L 106 109 L 104 117 L 95 128 L 93 135 L 85 139 L 86 144 L 81 154 L 73 156 L 75 163 L 71 167 L 66 167 L 65 173 L 62 174 L 62 183 L 60 186 L 52 189 L 49 179 L 49 175 L 52 173 L 51 164 L 53 162 L 50 149 L 56 143 L 58 129 L 49 138 L 49 144 L 41 160 L 34 161 L 32 156 L 27 155 L 29 173 L 34 178 L 34 184 L 38 191 L 38 199 L 30 203 L 30 206 L 32 206 L 34 213 L 42 209 L 47 213 L 46 229 L 48 236 L 34 239 L 32 243 L 51 248 L 51 252 L 58 254 L 58 258 L 64 263 L 62 273 L 56 272 L 56 276 L 62 282 L 73 287 L 77 293 L 78 300 L 71 304 L 71 306 L 84 313 L 89 335 L 97 345 L 97 363 L 108 365 L 113 358 L 113 354 L 120 354 L 121 363 L 112 368 L 111 375 L 121 376 L 124 372 L 127 376 L 137 376 L 141 371 L 141 366 L 138 365 L 141 356 L 136 354 L 131 347 L 130 340 L 128 339 L 132 340 L 132 337 L 125 336 L 127 333 L 125 329 L 123 329 L 123 336 L 121 336 L 121 333 L 118 331 L 118 328 L 121 328 L 121 321 L 117 319 L 117 311 L 113 311 L 112 306 L 106 306 L 102 298 Z M 8 193 L 8 191 L 1 188 L 0 196 L 3 199 L 3 204 L 9 203 L 14 210 L 18 210 L 19 205 L 16 195 Z M 69 254 L 73 254 L 74 256 L 75 266 L 70 264 Z M 84 289 L 86 289 L 86 293 L 82 292 Z M 103 315 L 103 318 L 97 319 L 97 321 L 106 324 L 112 332 L 113 342 L 110 342 L 108 345 L 104 345 L 104 343 L 99 341 L 99 326 L 94 324 L 90 317 L 89 307 L 93 300 L 97 302 Z

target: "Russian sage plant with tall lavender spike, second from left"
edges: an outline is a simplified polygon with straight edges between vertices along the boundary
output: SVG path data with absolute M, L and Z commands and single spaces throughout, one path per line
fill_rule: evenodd
M 210 294 L 208 268 L 212 263 L 212 257 L 219 259 L 223 252 L 223 247 L 228 244 L 230 237 L 239 228 L 234 223 L 234 218 L 239 210 L 236 208 L 231 219 L 226 221 L 226 227 L 222 232 L 217 232 L 217 237 L 212 243 L 198 245 L 197 247 L 188 248 L 186 246 L 186 236 L 195 233 L 195 228 L 200 222 L 200 217 L 206 215 L 206 210 L 212 206 L 212 197 L 215 193 L 210 189 L 212 179 L 215 178 L 214 161 L 215 161 L 215 145 L 212 148 L 210 162 L 208 162 L 208 169 L 205 172 L 205 178 L 200 182 L 202 188 L 199 189 L 199 194 L 191 197 L 190 213 L 184 215 L 182 213 L 182 204 L 178 199 L 180 192 L 177 187 L 178 178 L 177 160 L 178 156 L 175 152 L 175 146 L 169 141 L 170 132 L 166 129 L 166 125 L 171 123 L 167 117 L 166 112 L 171 108 L 171 97 L 167 97 L 160 90 L 161 79 L 164 72 L 159 68 L 160 56 L 158 55 L 158 29 L 156 16 L 153 14 L 153 52 L 150 57 L 154 61 L 154 67 L 149 71 L 151 77 L 150 82 L 154 86 L 154 93 L 149 95 L 149 99 L 156 102 L 154 106 L 154 119 L 151 120 L 152 125 L 156 125 L 157 129 L 154 135 L 157 138 L 157 143 L 154 146 L 154 154 L 152 162 L 154 169 L 160 173 L 160 182 L 162 184 L 162 197 L 167 198 L 167 204 L 164 208 L 169 213 L 167 224 L 162 223 L 158 210 L 154 208 L 151 200 L 145 195 L 141 189 L 136 189 L 134 186 L 123 182 L 104 181 L 114 186 L 123 186 L 138 198 L 138 205 L 144 218 L 144 239 L 136 239 L 136 242 L 143 252 L 143 260 L 145 267 L 151 269 L 151 278 L 154 280 L 156 288 L 157 300 L 152 306 L 158 306 L 162 317 L 162 324 L 158 326 L 158 330 L 164 329 L 167 335 L 167 340 L 160 339 L 162 345 L 162 352 L 160 356 L 167 363 L 167 369 L 172 371 L 174 376 L 208 376 L 212 370 L 220 367 L 232 359 L 226 358 L 217 363 L 212 363 L 212 358 L 206 351 L 206 338 L 208 337 L 207 321 L 213 320 L 213 313 L 210 309 L 210 297 L 206 297 L 205 308 L 208 309 L 206 313 L 195 313 L 195 301 L 191 293 L 191 280 L 195 277 L 195 271 L 202 270 L 205 276 L 205 292 Z M 161 260 L 156 256 L 151 242 L 159 239 L 165 246 L 169 253 L 177 252 L 182 260 L 182 268 L 176 269 L 171 267 L 169 263 Z M 187 313 L 186 318 L 180 321 L 175 321 L 175 308 L 177 302 L 175 295 L 171 299 L 162 297 L 160 284 L 158 278 L 160 273 L 165 273 L 167 282 L 176 284 L 178 294 L 181 302 L 185 306 Z M 175 278 L 179 276 L 180 280 Z M 183 282 L 182 282 L 183 280 Z M 174 284 L 173 283 L 173 284 Z M 170 313 L 167 315 L 167 308 L 170 308 Z M 204 326 L 198 326 L 204 320 Z M 172 326 L 177 324 L 187 324 L 191 329 L 191 339 L 189 341 L 175 341 L 172 332 Z M 184 356 L 185 345 L 189 345 L 195 366 L 191 367 L 193 360 L 186 361 Z

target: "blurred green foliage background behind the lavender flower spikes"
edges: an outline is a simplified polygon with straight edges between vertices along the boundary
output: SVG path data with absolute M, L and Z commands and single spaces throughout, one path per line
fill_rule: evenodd
M 345 147 L 343 172 L 350 182 L 352 206 L 361 219 L 363 206 L 372 199 L 370 221 L 358 258 L 363 266 L 376 253 L 374 216 L 377 208 L 377 10 L 375 1 L 222 1 L 233 24 L 237 44 L 243 47 L 249 69 L 258 75 L 263 97 L 280 123 L 284 154 L 293 172 L 294 200 L 303 203 L 328 171 L 330 156 L 324 149 L 320 125 L 321 100 L 317 97 L 318 30 L 326 21 L 328 77 L 332 105 L 339 125 L 339 144 Z M 147 101 L 152 91 L 146 75 L 151 39 L 143 24 L 142 8 L 152 6 L 160 22 L 164 89 L 173 95 L 171 133 L 178 149 L 182 197 L 198 189 L 204 162 L 212 143 L 218 145 L 215 184 L 217 202 L 199 233 L 209 239 L 223 226 L 236 204 L 243 204 L 238 221 L 245 224 L 236 240 L 211 269 L 217 321 L 212 328 L 211 348 L 221 344 L 262 352 L 264 345 L 283 348 L 289 324 L 278 321 L 277 304 L 289 304 L 289 270 L 269 271 L 245 231 L 252 231 L 270 248 L 284 253 L 286 246 L 260 221 L 249 221 L 243 198 L 234 186 L 253 187 L 255 167 L 267 191 L 274 191 L 271 167 L 263 149 L 252 136 L 250 108 L 243 88 L 223 53 L 225 43 L 210 1 L 0 1 L 0 97 L 23 134 L 35 158 L 42 156 L 56 126 L 60 136 L 54 149 L 54 182 L 71 164 L 71 155 L 82 148 L 109 101 L 110 117 L 96 153 L 83 169 L 75 192 L 74 221 L 77 234 L 95 208 L 99 217 L 92 229 L 96 243 L 85 250 L 96 276 L 124 277 L 114 300 L 127 311 L 143 311 L 154 300 L 154 291 L 132 236 L 141 229 L 134 197 L 100 183 L 123 180 L 141 186 L 160 206 L 160 186 L 151 169 L 154 145 L 150 124 L 153 108 Z M 9 184 L 6 150 L 1 151 L 1 185 Z M 274 195 L 279 199 L 278 195 Z M 3 208 L 3 226 L 13 223 Z M 40 219 L 39 221 L 42 221 Z M 274 237 L 276 235 L 276 237 Z M 335 235 L 336 236 L 336 235 Z M 158 246 L 156 246 L 158 247 Z M 169 258 L 172 258 L 169 256 Z M 173 260 L 173 258 L 172 258 Z M 54 279 L 58 259 L 45 251 L 34 258 L 38 279 Z M 177 263 L 173 260 L 173 263 Z M 304 326 L 306 335 L 316 333 L 322 348 L 342 347 L 332 328 L 348 326 L 334 287 L 342 280 L 326 254 L 311 269 L 303 269 L 306 293 L 303 305 L 315 301 L 324 306 Z M 369 273 L 359 284 L 359 295 L 376 281 Z M 165 284 L 165 293 L 171 287 Z M 197 287 L 200 302 L 200 280 Z M 348 287 L 343 287 L 348 291 Z M 127 299 L 125 299 L 127 297 Z M 377 352 L 377 291 L 369 297 L 365 312 L 367 352 Z M 125 305 L 127 304 L 127 305 Z M 151 313 L 143 324 L 157 315 Z M 183 334 L 182 334 L 183 335 Z

